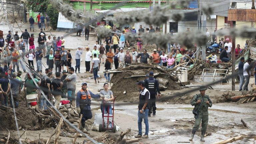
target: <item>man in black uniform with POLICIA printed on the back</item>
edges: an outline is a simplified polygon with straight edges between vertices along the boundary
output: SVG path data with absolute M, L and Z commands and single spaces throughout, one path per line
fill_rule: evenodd
M 158 93 L 158 97 L 161 96 L 160 90 L 159 90 L 159 83 L 158 80 L 153 78 L 154 73 L 151 71 L 149 73 L 149 78 L 145 79 L 145 87 L 150 93 L 150 109 L 148 116 L 150 117 L 150 114 L 153 111 L 153 116 L 156 115 L 156 94 Z

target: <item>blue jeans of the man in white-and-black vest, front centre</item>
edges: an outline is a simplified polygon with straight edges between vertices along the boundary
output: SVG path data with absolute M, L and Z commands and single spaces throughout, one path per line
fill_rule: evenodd
M 145 128 L 145 135 L 148 135 L 149 130 L 149 124 L 148 124 L 148 111 L 149 109 L 146 108 L 144 110 L 145 114 L 140 113 L 140 110 L 138 111 L 138 128 L 139 128 L 139 135 L 142 135 L 142 119 L 144 119 L 144 124 L 146 126 Z

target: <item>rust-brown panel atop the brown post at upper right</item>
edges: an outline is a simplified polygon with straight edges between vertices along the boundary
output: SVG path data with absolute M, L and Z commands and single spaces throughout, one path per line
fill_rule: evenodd
M 230 9 L 228 10 L 228 21 L 255 21 L 256 9 Z

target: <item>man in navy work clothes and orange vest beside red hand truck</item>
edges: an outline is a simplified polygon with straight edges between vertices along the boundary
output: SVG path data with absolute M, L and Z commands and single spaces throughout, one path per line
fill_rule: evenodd
M 76 108 L 79 117 L 81 114 L 83 115 L 81 123 L 84 132 L 87 131 L 85 129 L 85 121 L 92 118 L 91 98 L 100 98 L 100 95 L 93 94 L 87 89 L 87 83 L 82 83 L 82 89 L 76 94 Z

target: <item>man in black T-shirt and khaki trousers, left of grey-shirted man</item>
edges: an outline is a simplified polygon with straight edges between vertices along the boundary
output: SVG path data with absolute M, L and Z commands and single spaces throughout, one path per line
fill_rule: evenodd
M 56 78 L 52 80 L 52 94 L 55 98 L 55 104 L 54 107 L 56 107 L 56 109 L 59 109 L 59 105 L 60 105 L 60 99 L 61 99 L 61 95 L 62 95 L 62 87 L 63 87 L 63 82 L 60 79 L 60 72 L 56 72 Z

